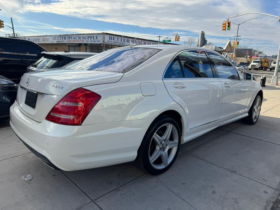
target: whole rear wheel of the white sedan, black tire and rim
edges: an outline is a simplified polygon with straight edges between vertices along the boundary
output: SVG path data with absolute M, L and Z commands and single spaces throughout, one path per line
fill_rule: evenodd
M 174 119 L 166 115 L 155 119 L 138 149 L 136 165 L 151 175 L 162 174 L 174 163 L 180 141 L 181 130 Z

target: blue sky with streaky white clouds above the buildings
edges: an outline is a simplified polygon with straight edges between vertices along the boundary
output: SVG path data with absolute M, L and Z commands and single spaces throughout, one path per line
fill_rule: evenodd
M 178 32 L 183 42 L 191 36 L 198 38 L 203 30 L 208 43 L 224 47 L 234 39 L 237 26 L 232 24 L 230 31 L 222 31 L 222 21 L 251 7 L 253 12 L 279 15 L 280 1 L 1 0 L 0 19 L 10 25 L 12 17 L 16 33 L 21 36 L 104 31 L 157 40 L 156 35 Z M 280 42 L 278 18 L 246 15 L 231 21 L 241 23 L 252 17 L 258 18 L 240 26 L 240 46 L 266 46 L 262 48 L 265 54 L 276 54 Z M 12 33 L 6 26 L 0 31 Z

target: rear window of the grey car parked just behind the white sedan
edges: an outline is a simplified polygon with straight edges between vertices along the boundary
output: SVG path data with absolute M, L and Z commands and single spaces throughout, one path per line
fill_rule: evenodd
M 35 68 L 40 69 L 49 69 L 49 68 L 59 68 L 66 64 L 65 59 L 53 56 L 53 55 L 44 55 L 42 58 L 37 60 L 33 65 Z

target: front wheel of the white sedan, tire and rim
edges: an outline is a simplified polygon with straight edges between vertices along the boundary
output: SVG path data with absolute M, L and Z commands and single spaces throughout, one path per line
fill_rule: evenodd
M 243 123 L 254 125 L 258 122 L 259 114 L 262 106 L 262 99 L 257 95 L 253 101 L 253 104 L 248 112 L 248 116 L 242 119 Z

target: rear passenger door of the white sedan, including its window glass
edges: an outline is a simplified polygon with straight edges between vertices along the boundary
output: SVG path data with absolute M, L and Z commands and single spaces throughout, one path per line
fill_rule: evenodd
M 204 51 L 184 51 L 167 67 L 163 82 L 169 95 L 185 110 L 189 129 L 218 119 L 222 84 L 215 77 Z

